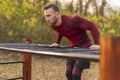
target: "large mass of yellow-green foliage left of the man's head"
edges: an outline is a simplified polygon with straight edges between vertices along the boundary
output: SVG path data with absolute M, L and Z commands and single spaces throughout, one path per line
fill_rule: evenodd
M 0 0 L 0 42 L 21 42 L 23 38 L 42 42 L 44 36 L 48 42 L 47 35 L 52 36 L 52 32 L 42 14 L 41 7 L 45 1 L 34 4 L 27 0 Z

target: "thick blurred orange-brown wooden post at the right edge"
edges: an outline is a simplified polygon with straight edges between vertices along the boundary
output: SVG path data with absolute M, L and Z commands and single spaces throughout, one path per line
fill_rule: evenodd
M 120 37 L 101 37 L 100 80 L 120 80 Z

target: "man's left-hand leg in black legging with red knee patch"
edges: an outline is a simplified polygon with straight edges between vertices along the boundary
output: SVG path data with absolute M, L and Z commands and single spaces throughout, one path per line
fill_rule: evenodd
M 67 77 L 67 80 L 73 80 L 72 72 L 73 72 L 74 64 L 75 64 L 75 60 L 73 60 L 73 59 L 68 59 L 67 60 L 67 64 L 66 64 L 66 77 Z

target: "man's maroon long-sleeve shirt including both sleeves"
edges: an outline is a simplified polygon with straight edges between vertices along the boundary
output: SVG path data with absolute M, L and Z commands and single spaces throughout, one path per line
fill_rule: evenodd
M 62 23 L 60 26 L 51 26 L 57 31 L 56 43 L 60 43 L 62 37 L 66 37 L 72 47 L 88 47 L 92 42 L 86 32 L 90 30 L 94 43 L 99 44 L 98 26 L 80 16 L 62 15 Z

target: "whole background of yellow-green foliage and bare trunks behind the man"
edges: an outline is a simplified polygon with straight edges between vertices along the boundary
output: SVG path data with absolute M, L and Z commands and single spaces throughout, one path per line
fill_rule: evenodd
M 77 4 L 71 0 L 64 6 L 60 0 L 0 0 L 0 42 L 31 38 L 35 43 L 52 43 L 55 32 L 46 24 L 42 11 L 48 2 L 57 4 L 62 14 L 78 14 L 95 22 L 101 35 L 120 36 L 120 12 L 107 0 L 77 0 Z

